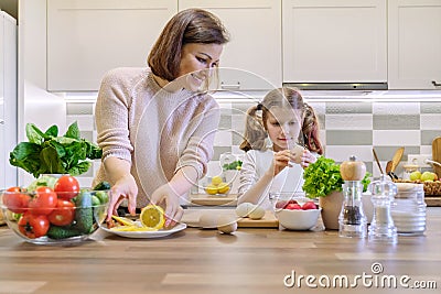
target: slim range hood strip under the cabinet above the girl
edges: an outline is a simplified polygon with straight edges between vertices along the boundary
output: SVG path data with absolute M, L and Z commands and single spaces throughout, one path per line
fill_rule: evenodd
M 387 83 L 283 83 L 301 90 L 387 90 Z

